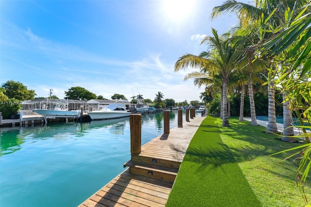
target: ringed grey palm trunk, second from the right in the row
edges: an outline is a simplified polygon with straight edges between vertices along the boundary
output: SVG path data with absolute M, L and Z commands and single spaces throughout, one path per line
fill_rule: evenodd
M 276 102 L 274 99 L 275 88 L 274 81 L 268 80 L 268 125 L 266 133 L 277 133 L 276 126 Z

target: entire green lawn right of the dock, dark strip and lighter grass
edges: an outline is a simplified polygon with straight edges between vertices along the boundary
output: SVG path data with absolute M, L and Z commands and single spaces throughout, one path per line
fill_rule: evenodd
M 190 142 L 169 196 L 168 207 L 301 207 L 301 187 L 296 187 L 298 163 L 282 164 L 281 154 L 298 144 L 277 140 L 265 128 L 250 122 L 208 116 Z M 310 179 L 309 181 L 310 182 Z M 305 187 L 311 198 L 311 189 Z

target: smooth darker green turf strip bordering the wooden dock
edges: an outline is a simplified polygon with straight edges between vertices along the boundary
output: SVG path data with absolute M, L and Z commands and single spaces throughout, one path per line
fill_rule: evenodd
M 192 138 L 167 207 L 262 206 L 223 143 L 216 121 L 208 116 Z

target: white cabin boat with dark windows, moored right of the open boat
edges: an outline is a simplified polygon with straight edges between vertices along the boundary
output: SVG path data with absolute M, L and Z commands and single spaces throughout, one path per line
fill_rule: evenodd
M 124 103 L 109 104 L 105 108 L 98 111 L 89 111 L 87 114 L 92 120 L 109 120 L 129 117 L 131 112 L 126 110 Z

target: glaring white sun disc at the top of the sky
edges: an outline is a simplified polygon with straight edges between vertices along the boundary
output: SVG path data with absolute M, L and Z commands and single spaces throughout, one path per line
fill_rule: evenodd
M 173 21 L 182 20 L 190 15 L 194 0 L 163 0 L 164 12 Z

